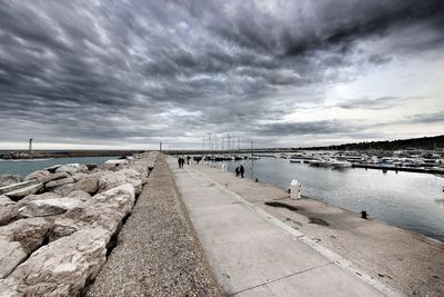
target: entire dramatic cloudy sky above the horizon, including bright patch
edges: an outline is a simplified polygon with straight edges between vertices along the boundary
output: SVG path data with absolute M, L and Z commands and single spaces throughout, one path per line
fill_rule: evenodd
M 0 0 L 0 149 L 444 133 L 442 0 Z

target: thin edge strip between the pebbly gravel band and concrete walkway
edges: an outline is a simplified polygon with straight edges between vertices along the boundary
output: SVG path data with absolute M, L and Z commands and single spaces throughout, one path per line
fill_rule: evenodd
M 171 168 L 170 168 L 170 166 L 169 166 L 169 164 L 168 164 L 168 161 L 167 161 L 167 158 L 170 158 L 170 156 L 165 156 L 165 155 L 162 154 L 162 158 L 164 159 L 164 161 L 165 161 L 165 164 L 167 164 L 168 171 L 170 172 L 170 178 L 171 178 L 172 184 L 173 184 L 173 187 L 174 187 L 174 196 L 178 198 L 178 201 L 179 201 L 179 204 L 180 204 L 180 208 L 181 208 L 181 210 L 182 210 L 182 212 L 183 212 L 183 215 L 184 215 L 184 217 L 185 217 L 186 224 L 188 224 L 188 226 L 189 226 L 189 228 L 190 228 L 190 230 L 191 230 L 191 234 L 192 234 L 192 236 L 193 236 L 193 238 L 194 238 L 194 240 L 195 240 L 195 242 L 196 242 L 196 247 L 198 247 L 198 249 L 199 249 L 199 253 L 202 255 L 203 265 L 206 267 L 208 271 L 211 273 L 211 274 L 210 274 L 210 277 L 211 277 L 211 279 L 212 279 L 214 286 L 218 288 L 218 291 L 220 293 L 220 296 L 226 296 L 226 294 L 225 294 L 225 293 L 223 291 L 223 289 L 222 289 L 222 286 L 219 284 L 218 278 L 216 278 L 215 275 L 214 275 L 214 269 L 213 269 L 213 267 L 210 265 L 209 260 L 206 259 L 205 251 L 203 250 L 202 244 L 201 244 L 201 241 L 199 240 L 199 237 L 198 237 L 198 235 L 196 235 L 196 232 L 195 232 L 194 225 L 193 225 L 193 222 L 192 222 L 192 220 L 191 220 L 190 214 L 189 214 L 188 210 L 186 210 L 186 206 L 185 206 L 185 204 L 183 202 L 182 195 L 180 195 L 178 185 L 175 185 L 175 180 L 174 180 L 174 177 L 173 177 L 173 172 L 171 171 Z M 194 169 L 193 169 L 193 170 L 194 170 Z

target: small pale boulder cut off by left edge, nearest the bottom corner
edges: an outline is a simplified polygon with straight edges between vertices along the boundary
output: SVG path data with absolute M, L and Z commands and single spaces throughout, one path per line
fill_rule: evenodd
M 0 278 L 7 277 L 26 258 L 20 242 L 0 236 Z

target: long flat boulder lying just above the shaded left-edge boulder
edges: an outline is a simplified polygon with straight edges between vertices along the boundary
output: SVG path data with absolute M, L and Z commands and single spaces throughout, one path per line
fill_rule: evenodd
M 70 209 L 83 206 L 83 201 L 78 198 L 56 198 L 43 200 L 31 200 L 21 207 L 20 217 L 48 217 L 67 212 Z

